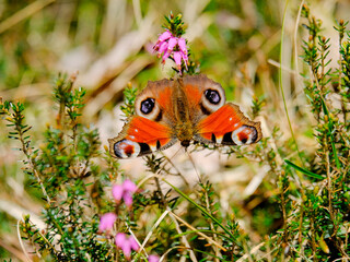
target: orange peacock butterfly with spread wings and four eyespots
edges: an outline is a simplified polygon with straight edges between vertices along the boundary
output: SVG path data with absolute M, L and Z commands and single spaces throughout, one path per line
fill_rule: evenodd
M 247 145 L 262 138 L 260 122 L 225 103 L 222 86 L 205 74 L 148 82 L 136 97 L 136 115 L 121 132 L 109 139 L 110 155 L 143 156 L 165 150 L 177 141 L 215 145 Z

